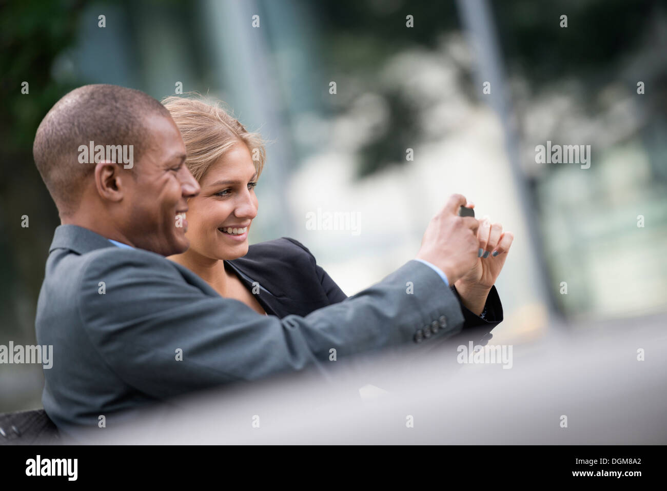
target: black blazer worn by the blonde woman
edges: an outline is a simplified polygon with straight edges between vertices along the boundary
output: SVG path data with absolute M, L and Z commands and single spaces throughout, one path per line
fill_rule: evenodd
M 289 237 L 255 243 L 242 258 L 226 260 L 241 282 L 252 292 L 269 315 L 283 318 L 289 314 L 307 316 L 319 308 L 342 302 L 348 296 L 340 289 L 303 244 Z M 486 344 L 490 331 L 503 320 L 502 304 L 496 287 L 486 300 L 484 318 L 476 316 L 461 304 L 454 286 L 450 286 L 464 316 L 463 338 Z M 459 336 L 457 336 L 459 338 Z M 461 340 L 463 338 L 460 338 Z

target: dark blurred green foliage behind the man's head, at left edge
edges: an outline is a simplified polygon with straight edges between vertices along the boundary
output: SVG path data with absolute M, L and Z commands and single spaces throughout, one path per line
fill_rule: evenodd
M 81 2 L 13 1 L 0 8 L 0 310 L 4 332 L 34 336 L 31 304 L 58 219 L 33 163 L 33 138 L 47 111 L 73 88 L 54 81 L 51 67 L 75 40 Z M 23 81 L 27 94 L 21 93 Z M 29 216 L 27 228 L 21 227 L 23 215 Z

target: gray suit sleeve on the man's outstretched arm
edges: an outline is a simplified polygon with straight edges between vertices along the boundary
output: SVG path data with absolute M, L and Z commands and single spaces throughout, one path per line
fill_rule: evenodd
M 409 261 L 382 282 L 311 312 L 279 319 L 222 298 L 157 254 L 106 248 L 81 270 L 81 324 L 109 368 L 129 386 L 167 398 L 256 380 L 309 364 L 411 344 L 434 321 L 428 344 L 460 332 L 454 292 L 428 266 Z M 99 293 L 105 282 L 105 294 Z M 413 282 L 414 294 L 406 294 Z

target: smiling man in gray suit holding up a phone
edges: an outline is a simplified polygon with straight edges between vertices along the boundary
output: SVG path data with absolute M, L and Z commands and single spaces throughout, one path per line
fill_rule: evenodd
M 109 147 L 123 159 L 109 158 Z M 54 351 L 43 405 L 65 432 L 193 390 L 326 363 L 331 348 L 340 358 L 453 336 L 464 325 L 460 298 L 474 318 L 500 308 L 492 285 L 511 240 L 490 241 L 501 253 L 496 269 L 474 278 L 478 221 L 456 215 L 461 195 L 432 219 L 416 260 L 344 302 L 278 319 L 221 298 L 164 258 L 188 247 L 187 199 L 199 185 L 158 101 L 113 85 L 75 89 L 39 125 L 33 155 L 62 223 L 35 328 Z

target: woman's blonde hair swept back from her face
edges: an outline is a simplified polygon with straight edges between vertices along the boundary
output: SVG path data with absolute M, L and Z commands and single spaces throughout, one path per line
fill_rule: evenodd
M 192 175 L 201 181 L 211 165 L 225 155 L 235 143 L 242 141 L 252 155 L 257 179 L 264 167 L 266 153 L 259 133 L 251 133 L 225 103 L 217 99 L 205 98 L 197 93 L 189 97 L 171 95 L 162 100 L 171 117 L 181 131 L 185 141 L 185 165 Z

